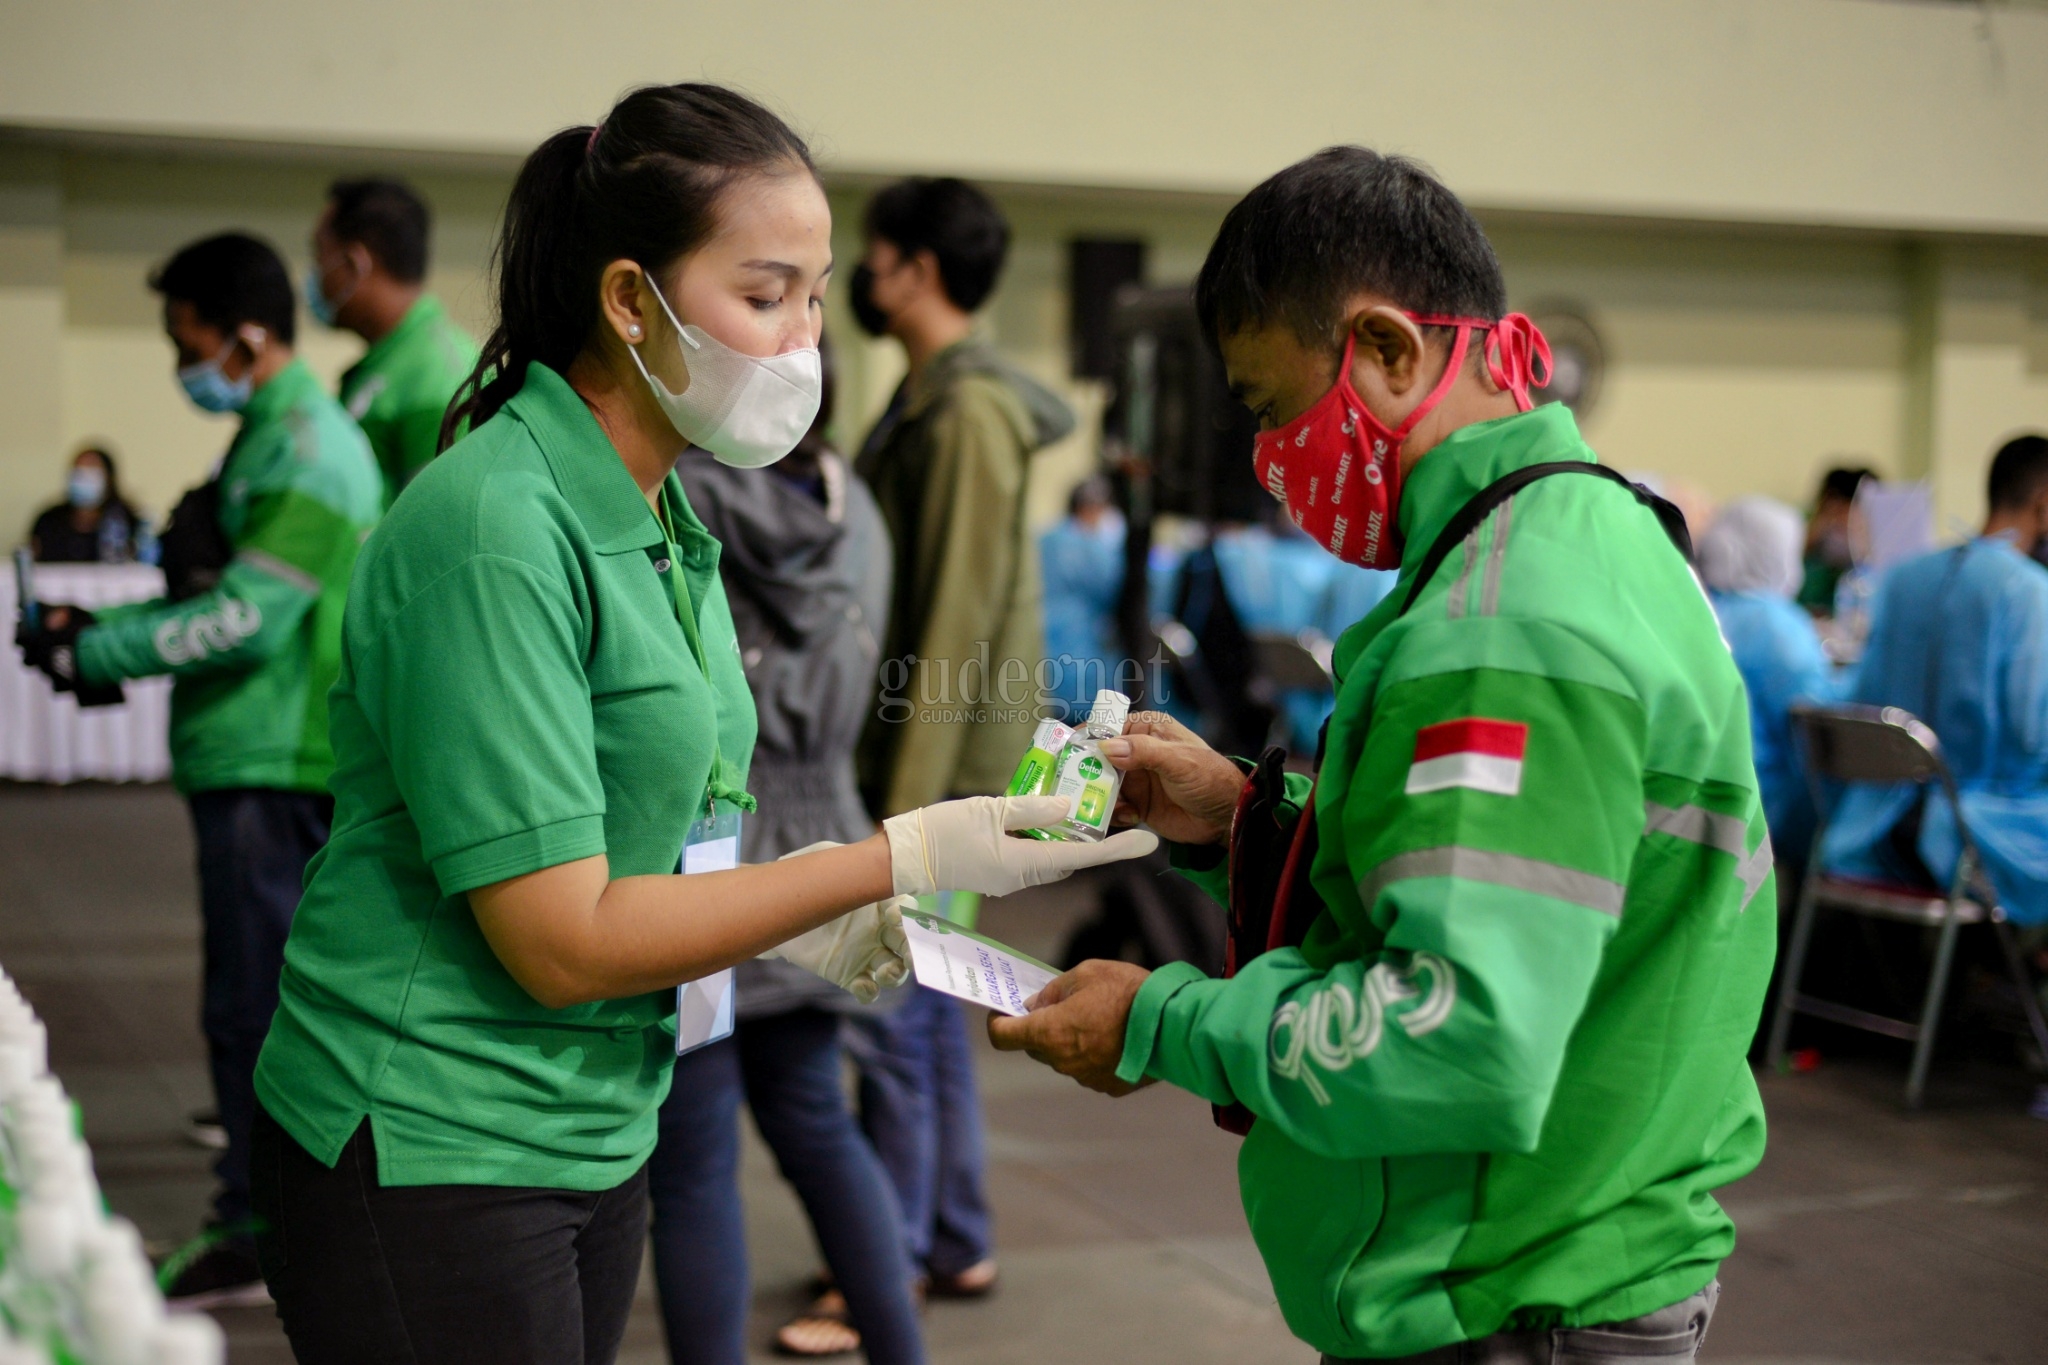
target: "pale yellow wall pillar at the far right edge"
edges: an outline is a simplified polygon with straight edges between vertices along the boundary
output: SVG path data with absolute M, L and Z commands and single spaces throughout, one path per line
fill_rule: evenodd
M 1985 520 L 1999 444 L 2048 428 L 2048 385 L 2030 375 L 2030 254 L 1923 244 L 1907 280 L 1905 473 L 1933 485 L 1935 534 L 1952 540 Z

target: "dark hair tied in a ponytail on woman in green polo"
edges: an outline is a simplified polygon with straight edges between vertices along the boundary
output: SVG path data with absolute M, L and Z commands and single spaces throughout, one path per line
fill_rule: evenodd
M 666 270 L 717 227 L 717 203 L 750 174 L 811 174 L 786 123 L 723 86 L 647 86 L 592 127 L 541 143 L 512 182 L 492 266 L 498 325 L 440 420 L 440 448 L 489 422 L 535 360 L 565 372 L 598 325 L 612 260 Z

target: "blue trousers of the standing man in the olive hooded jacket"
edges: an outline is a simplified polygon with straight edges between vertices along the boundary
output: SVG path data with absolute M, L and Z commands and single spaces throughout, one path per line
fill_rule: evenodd
M 975 1058 L 958 1001 L 905 988 L 911 999 L 899 1009 L 848 1019 L 860 1124 L 895 1183 L 911 1263 L 958 1275 L 995 1250 Z

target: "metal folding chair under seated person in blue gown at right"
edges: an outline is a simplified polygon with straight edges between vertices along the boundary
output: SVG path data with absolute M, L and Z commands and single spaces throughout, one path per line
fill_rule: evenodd
M 2013 941 L 2013 929 L 2005 923 L 1997 892 L 1985 876 L 1976 843 L 1970 839 L 1970 829 L 1962 819 L 1962 802 L 1956 798 L 1956 778 L 1950 774 L 1948 763 L 1942 761 L 1942 745 L 1933 731 L 1896 706 L 1794 706 L 1792 724 L 1800 735 L 1806 755 L 1806 782 L 1812 786 L 1815 808 L 1823 814 L 1821 827 L 1812 837 L 1812 853 L 1806 857 L 1806 874 L 1800 880 L 1798 915 L 1792 921 L 1792 945 L 1786 954 L 1784 980 L 1778 986 L 1778 1015 L 1772 1019 L 1769 1064 L 1776 1068 L 1784 1060 L 1792 1015 L 1815 1015 L 1872 1033 L 1903 1038 L 1913 1044 L 1913 1070 L 1907 1074 L 1907 1109 L 1919 1109 L 1927 1089 L 1927 1064 L 1933 1058 L 1935 1029 L 1942 1023 L 1942 1003 L 1948 997 L 1950 968 L 1956 960 L 1956 933 L 1962 925 L 1976 923 L 1989 923 L 1997 935 L 1999 950 L 2005 954 L 2005 966 L 2019 988 L 2028 1025 L 2034 1029 L 2034 1044 L 2042 1050 L 2042 1056 L 2048 1056 L 2048 1023 L 2042 1021 L 2040 1003 L 2028 984 L 2025 962 L 2019 956 L 2019 945 Z M 1823 872 L 1821 841 L 1827 837 L 1831 814 L 1825 800 L 1825 784 L 1829 782 L 1939 784 L 1942 796 L 1956 810 L 1956 835 L 1962 843 L 1962 855 L 1956 860 L 1956 876 L 1950 878 L 1948 894 L 1929 886 L 1864 882 Z M 1821 909 L 1939 929 L 1933 972 L 1927 976 L 1927 993 L 1921 1001 L 1919 1019 L 1874 1015 L 1800 990 L 1806 950 L 1812 941 L 1812 925 Z

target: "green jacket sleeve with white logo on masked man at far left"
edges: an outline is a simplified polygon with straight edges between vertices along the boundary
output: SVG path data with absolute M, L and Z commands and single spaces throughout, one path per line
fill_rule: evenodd
M 324 577 L 348 563 L 358 534 L 299 489 L 256 495 L 221 581 L 197 598 L 150 602 L 94 624 L 78 636 L 80 673 L 115 681 L 258 667 L 297 639 Z

